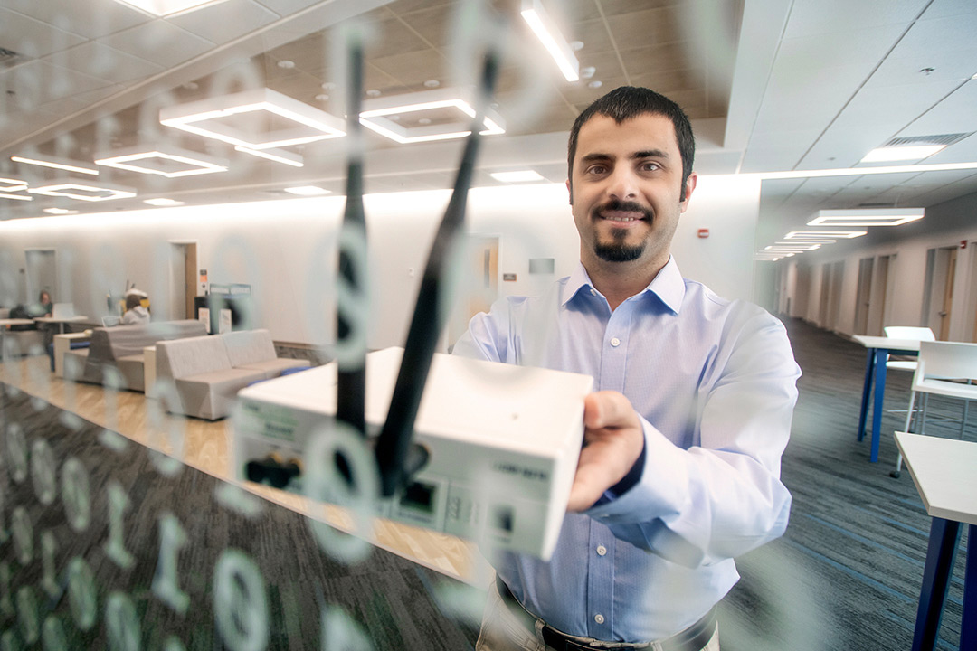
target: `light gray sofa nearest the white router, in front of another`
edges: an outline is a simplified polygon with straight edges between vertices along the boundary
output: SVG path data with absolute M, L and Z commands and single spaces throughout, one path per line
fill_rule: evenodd
M 153 393 L 167 411 L 216 421 L 231 415 L 241 388 L 309 366 L 306 360 L 276 357 L 268 330 L 160 342 Z

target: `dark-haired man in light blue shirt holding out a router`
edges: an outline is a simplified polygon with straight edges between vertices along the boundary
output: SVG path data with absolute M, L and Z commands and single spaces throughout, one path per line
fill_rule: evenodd
M 698 179 L 677 104 L 616 89 L 569 148 L 580 264 L 548 295 L 477 315 L 454 348 L 596 387 L 557 548 L 489 558 L 478 649 L 718 649 L 733 557 L 786 528 L 800 370 L 780 321 L 683 279 L 670 256 Z

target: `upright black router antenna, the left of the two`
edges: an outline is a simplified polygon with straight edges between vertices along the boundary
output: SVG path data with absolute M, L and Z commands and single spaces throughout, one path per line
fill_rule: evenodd
M 360 126 L 363 45 L 361 29 L 349 33 L 350 65 L 347 86 L 346 129 L 349 162 L 346 173 L 346 212 L 339 236 L 339 282 L 348 287 L 350 301 L 336 310 L 338 385 L 336 419 L 366 435 L 366 319 L 347 310 L 367 309 L 366 220 L 363 215 L 363 148 Z M 358 300 L 361 299 L 361 300 Z

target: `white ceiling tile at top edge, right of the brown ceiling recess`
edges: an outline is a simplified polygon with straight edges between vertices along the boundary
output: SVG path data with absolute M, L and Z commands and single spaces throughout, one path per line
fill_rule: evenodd
M 787 20 L 786 38 L 830 34 L 838 25 L 865 27 L 905 24 L 915 19 L 929 0 L 797 0 Z

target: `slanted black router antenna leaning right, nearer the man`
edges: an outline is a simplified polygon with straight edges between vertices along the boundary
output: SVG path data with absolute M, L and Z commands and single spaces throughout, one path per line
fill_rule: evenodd
M 475 158 L 478 155 L 479 132 L 485 120 L 486 105 L 495 86 L 497 70 L 497 57 L 494 52 L 489 51 L 482 72 L 482 85 L 479 89 L 472 131 L 465 142 L 465 150 L 461 157 L 461 165 L 458 167 L 451 200 L 447 204 L 445 218 L 438 227 L 438 233 L 431 245 L 431 253 L 424 268 L 420 291 L 417 294 L 417 304 L 414 306 L 410 330 L 407 332 L 407 340 L 404 344 L 404 360 L 390 401 L 387 422 L 380 430 L 376 443 L 376 460 L 384 497 L 392 496 L 404 484 L 410 471 L 417 469 L 412 468 L 417 460 L 408 457 L 417 453 L 423 455 L 423 450 L 415 450 L 411 447 L 414 421 L 417 418 L 417 409 L 427 382 L 428 371 L 431 369 L 438 336 L 447 318 L 446 314 L 440 313 L 445 305 L 446 287 L 443 276 L 450 271 L 448 264 L 451 263 L 451 253 L 461 236 L 468 188 L 472 184 Z M 426 459 L 422 457 L 419 461 L 423 464 Z

